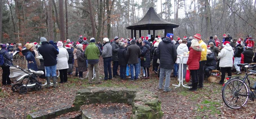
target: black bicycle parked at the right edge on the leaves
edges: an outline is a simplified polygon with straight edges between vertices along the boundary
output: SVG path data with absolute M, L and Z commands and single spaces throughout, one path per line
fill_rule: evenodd
M 242 79 L 240 78 L 241 76 L 228 77 L 229 80 L 222 87 L 222 100 L 231 109 L 239 109 L 246 104 L 248 98 L 252 101 L 256 98 L 256 92 L 251 88 L 248 77 L 248 75 L 256 74 L 256 71 L 248 70 L 249 64 L 237 64 L 237 66 L 245 69 L 245 77 Z M 246 84 L 246 79 L 250 87 L 250 92 Z

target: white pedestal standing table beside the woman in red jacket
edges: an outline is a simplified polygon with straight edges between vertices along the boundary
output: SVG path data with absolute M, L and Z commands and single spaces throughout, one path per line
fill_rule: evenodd
M 176 86 L 175 88 L 177 87 L 180 87 L 180 84 L 183 86 L 183 87 L 187 87 L 187 88 L 190 88 L 189 86 L 186 86 L 187 84 L 183 84 L 183 59 L 188 57 L 188 55 L 178 55 L 177 56 L 177 60 L 180 60 L 180 63 L 179 63 L 179 84 L 178 85 L 174 85 L 173 86 Z

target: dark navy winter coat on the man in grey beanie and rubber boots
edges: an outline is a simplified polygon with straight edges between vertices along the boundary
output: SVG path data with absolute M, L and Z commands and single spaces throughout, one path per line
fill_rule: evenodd
M 48 42 L 42 42 L 38 48 L 39 53 L 43 56 L 45 66 L 54 66 L 57 64 L 56 57 L 59 52 Z

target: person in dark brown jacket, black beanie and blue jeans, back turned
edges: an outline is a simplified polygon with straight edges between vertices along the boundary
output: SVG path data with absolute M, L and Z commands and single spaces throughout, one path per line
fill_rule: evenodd
M 141 55 L 140 47 L 136 45 L 136 40 L 133 39 L 131 41 L 131 45 L 127 48 L 126 56 L 128 60 L 128 64 L 130 65 L 131 71 L 131 79 L 130 81 L 138 80 L 138 65 L 140 64 L 138 61 L 138 57 Z M 135 77 L 134 77 L 134 70 L 135 70 Z

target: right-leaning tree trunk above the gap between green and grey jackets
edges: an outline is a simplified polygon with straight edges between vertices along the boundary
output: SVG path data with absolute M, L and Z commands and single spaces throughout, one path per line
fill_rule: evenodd
M 100 0 L 100 8 L 99 8 L 99 16 L 98 16 L 98 31 L 97 31 L 97 36 L 96 40 L 100 41 L 100 33 L 101 33 L 101 28 L 102 28 L 102 17 L 103 17 L 103 1 Z

